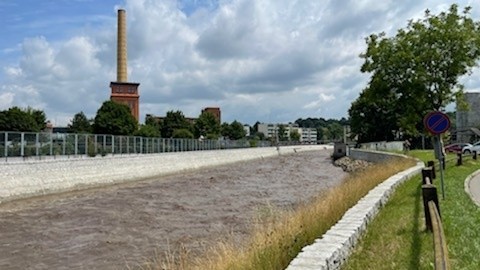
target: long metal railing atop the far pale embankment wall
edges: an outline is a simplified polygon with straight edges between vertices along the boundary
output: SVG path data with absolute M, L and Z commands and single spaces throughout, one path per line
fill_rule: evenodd
M 291 144 L 291 142 L 283 142 Z M 0 157 L 55 157 L 152 154 L 269 147 L 270 141 L 199 140 L 101 134 L 0 132 Z

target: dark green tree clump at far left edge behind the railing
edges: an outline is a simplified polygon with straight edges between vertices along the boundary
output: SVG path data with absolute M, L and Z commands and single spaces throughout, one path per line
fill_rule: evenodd
M 21 109 L 11 107 L 8 110 L 0 111 L 0 130 L 39 132 L 46 127 L 45 113 L 30 107 Z

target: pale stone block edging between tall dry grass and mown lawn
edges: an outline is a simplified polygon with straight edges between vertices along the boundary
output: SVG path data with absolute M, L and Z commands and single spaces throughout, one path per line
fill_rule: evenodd
M 424 167 L 424 163 L 418 161 L 414 167 L 397 173 L 377 185 L 355 206 L 347 210 L 343 217 L 321 238 L 304 247 L 286 269 L 340 269 L 365 232 L 367 225 L 378 214 L 380 208 L 387 203 L 396 187 L 419 174 Z

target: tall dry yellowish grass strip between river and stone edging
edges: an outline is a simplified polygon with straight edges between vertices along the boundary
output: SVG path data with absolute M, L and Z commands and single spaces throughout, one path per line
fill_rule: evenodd
M 303 246 L 325 233 L 368 191 L 413 165 L 413 160 L 400 159 L 371 166 L 295 211 L 276 214 L 254 228 L 244 245 L 221 243 L 201 258 L 191 258 L 188 252 L 168 254 L 143 269 L 285 269 Z

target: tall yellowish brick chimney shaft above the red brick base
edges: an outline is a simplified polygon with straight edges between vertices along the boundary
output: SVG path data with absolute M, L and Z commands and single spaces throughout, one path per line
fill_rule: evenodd
M 118 10 L 117 82 L 127 82 L 127 22 L 124 9 Z

